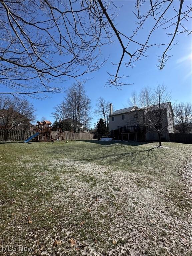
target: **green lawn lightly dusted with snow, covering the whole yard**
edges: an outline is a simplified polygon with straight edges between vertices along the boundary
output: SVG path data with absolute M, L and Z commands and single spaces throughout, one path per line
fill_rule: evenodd
M 155 145 L 1 143 L 0 255 L 191 255 L 191 145 Z

